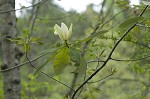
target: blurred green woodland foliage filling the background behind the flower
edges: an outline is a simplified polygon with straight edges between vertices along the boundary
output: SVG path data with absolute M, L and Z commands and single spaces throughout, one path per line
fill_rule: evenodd
M 94 10 L 95 6 L 101 6 L 100 12 Z M 32 62 L 39 68 L 36 72 L 30 64 L 21 67 L 22 99 L 63 99 L 70 89 L 39 71 L 44 71 L 68 86 L 73 83 L 74 75 L 79 73 L 74 84 L 76 89 L 101 66 L 117 40 L 135 22 L 139 24 L 121 41 L 106 67 L 90 80 L 99 81 L 87 83 L 78 99 L 149 99 L 150 58 L 144 57 L 150 55 L 150 9 L 141 19 L 137 16 L 143 8 L 143 3 L 131 7 L 128 0 L 106 0 L 103 6 L 101 3 L 90 4 L 85 12 L 78 13 L 74 10 L 66 12 L 47 0 L 38 6 L 33 31 L 33 13 L 32 9 L 28 9 L 26 14 L 18 17 L 18 38 L 12 41 L 29 44 L 30 59 L 48 51 L 52 53 Z M 65 47 L 59 54 L 55 54 L 56 50 L 64 46 L 64 42 L 53 33 L 54 25 L 60 25 L 61 22 L 67 25 L 73 23 L 73 33 L 68 41 L 70 48 Z M 31 42 L 26 42 L 27 34 L 32 34 Z M 21 50 L 25 48 L 20 47 Z M 24 61 L 26 57 L 21 60 Z M 113 70 L 117 72 L 107 77 Z M 59 75 L 56 75 L 56 71 Z M 0 88 L 2 87 L 1 73 Z M 2 97 L 3 90 L 0 90 L 0 99 Z

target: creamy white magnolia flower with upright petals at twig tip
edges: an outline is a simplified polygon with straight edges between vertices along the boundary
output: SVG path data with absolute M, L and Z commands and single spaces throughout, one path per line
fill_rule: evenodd
M 72 34 L 72 26 L 73 24 L 71 23 L 70 28 L 68 29 L 68 27 L 64 24 L 61 23 L 61 27 L 59 27 L 57 24 L 55 24 L 54 26 L 54 34 L 59 35 L 59 37 L 62 40 L 68 40 Z

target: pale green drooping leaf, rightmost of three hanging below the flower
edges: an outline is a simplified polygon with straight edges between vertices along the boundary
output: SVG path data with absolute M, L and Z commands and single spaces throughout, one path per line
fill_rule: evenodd
M 77 67 L 79 73 L 86 73 L 87 70 L 87 63 L 83 57 L 80 57 L 80 65 Z

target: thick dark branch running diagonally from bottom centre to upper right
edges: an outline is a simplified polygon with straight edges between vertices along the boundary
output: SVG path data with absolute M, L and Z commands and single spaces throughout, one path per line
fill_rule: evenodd
M 142 16 L 144 14 L 144 12 L 146 11 L 146 9 L 148 8 L 148 5 L 144 8 L 144 10 L 142 11 L 142 13 L 139 16 Z M 75 95 L 77 94 L 77 92 L 89 81 L 91 80 L 102 68 L 104 68 L 107 64 L 107 62 L 111 59 L 111 56 L 113 54 L 113 52 L 115 51 L 116 47 L 119 45 L 119 43 L 126 37 L 126 35 L 136 26 L 137 23 L 135 23 L 133 26 L 131 26 L 125 33 L 124 35 L 117 41 L 117 43 L 114 45 L 114 47 L 112 48 L 111 52 L 109 53 L 107 59 L 105 60 L 105 62 L 102 64 L 101 67 L 99 67 L 95 72 L 93 72 L 74 92 L 74 94 L 72 95 L 71 99 L 74 99 Z

